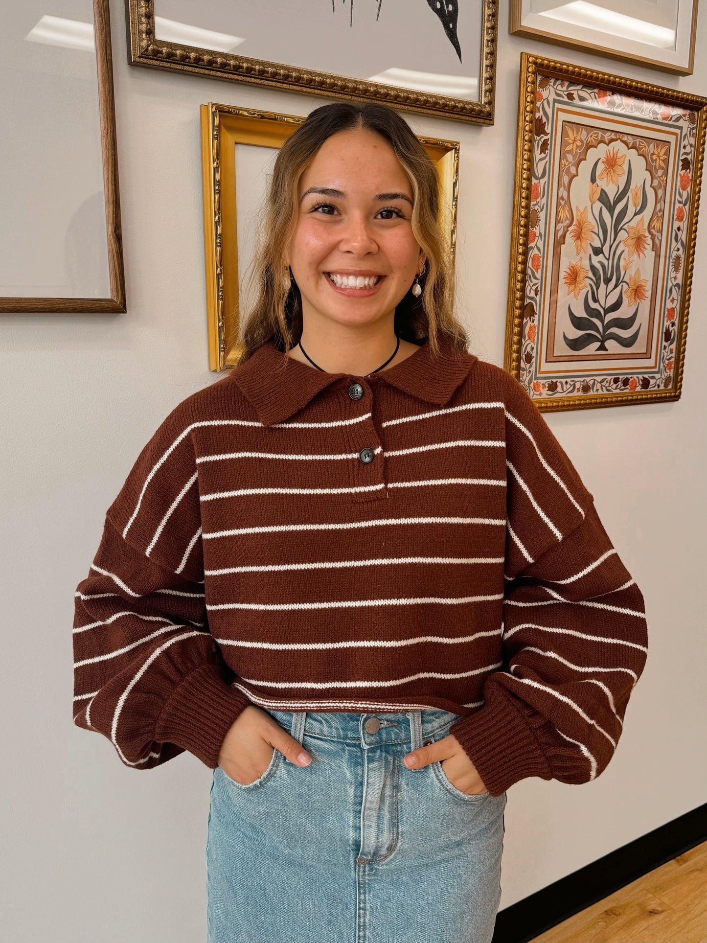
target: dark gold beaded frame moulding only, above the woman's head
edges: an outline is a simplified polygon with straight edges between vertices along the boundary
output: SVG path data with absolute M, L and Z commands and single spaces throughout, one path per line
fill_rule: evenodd
M 422 91 L 395 89 L 346 75 L 298 69 L 282 62 L 245 58 L 233 53 L 209 52 L 180 42 L 155 38 L 154 0 L 125 0 L 130 38 L 128 59 L 133 65 L 156 66 L 224 78 L 251 85 L 290 91 L 306 91 L 327 98 L 385 102 L 391 108 L 417 111 L 438 118 L 454 118 L 475 124 L 493 124 L 498 41 L 498 0 L 482 0 L 481 75 L 478 102 Z

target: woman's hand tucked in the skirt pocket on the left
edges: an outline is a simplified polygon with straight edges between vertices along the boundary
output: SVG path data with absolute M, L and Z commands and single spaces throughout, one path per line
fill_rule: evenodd
M 290 763 L 299 767 L 307 766 L 312 759 L 302 744 L 272 720 L 267 711 L 248 704 L 223 737 L 219 766 L 241 786 L 248 786 L 268 769 L 274 750 L 279 750 Z

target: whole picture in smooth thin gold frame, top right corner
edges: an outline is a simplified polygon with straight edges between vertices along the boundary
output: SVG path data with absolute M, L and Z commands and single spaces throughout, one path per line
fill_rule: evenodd
M 649 16 L 645 21 L 636 17 L 640 6 L 635 0 L 617 0 L 610 9 L 588 4 L 553 4 L 539 14 L 528 9 L 532 0 L 511 0 L 508 31 L 512 36 L 552 42 L 664 72 L 691 75 L 695 62 L 698 0 L 677 0 L 675 23 L 669 27 L 665 25 L 670 22 L 667 10 L 647 0 L 640 2 Z M 541 6 L 545 6 L 542 0 Z M 601 23 L 602 11 L 604 24 Z M 558 14 L 564 18 L 560 19 Z M 602 26 L 610 28 L 602 29 Z

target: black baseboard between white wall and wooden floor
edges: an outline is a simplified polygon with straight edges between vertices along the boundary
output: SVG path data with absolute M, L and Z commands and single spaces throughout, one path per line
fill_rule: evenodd
M 496 915 L 493 943 L 528 943 L 703 841 L 707 841 L 707 804 L 504 907 Z

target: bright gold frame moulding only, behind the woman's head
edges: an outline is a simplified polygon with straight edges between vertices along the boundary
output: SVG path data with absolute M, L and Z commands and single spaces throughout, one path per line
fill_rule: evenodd
M 209 102 L 200 106 L 202 184 L 204 194 L 204 256 L 206 265 L 206 321 L 208 369 L 230 370 L 235 351 L 225 339 L 237 332 L 238 229 L 236 208 L 236 144 L 279 148 L 304 122 L 300 115 Z M 449 226 L 452 260 L 456 247 L 456 207 L 459 183 L 459 141 L 418 140 L 436 164 L 439 195 Z M 222 199 L 227 193 L 228 198 Z

